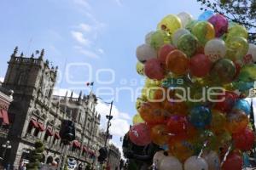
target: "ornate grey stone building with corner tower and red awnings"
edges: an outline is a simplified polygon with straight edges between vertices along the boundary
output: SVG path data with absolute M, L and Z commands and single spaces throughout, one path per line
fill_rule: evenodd
M 33 54 L 29 58 L 22 53 L 18 55 L 18 48 L 10 56 L 1 88 L 14 90 L 7 139 L 12 145 L 10 163 L 15 168 L 20 161 L 27 161 L 37 140 L 44 141 L 44 162 L 49 157 L 57 162 L 61 160 L 63 144 L 59 131 L 63 119 L 73 120 L 76 125 L 76 140 L 69 145 L 68 156 L 84 166 L 97 165 L 97 151 L 102 144 L 98 142 L 101 116 L 95 109 L 96 95 L 53 96 L 57 70 L 49 66 L 48 60 L 44 61 L 44 49 L 37 59 Z M 0 144 L 7 139 L 0 138 Z

